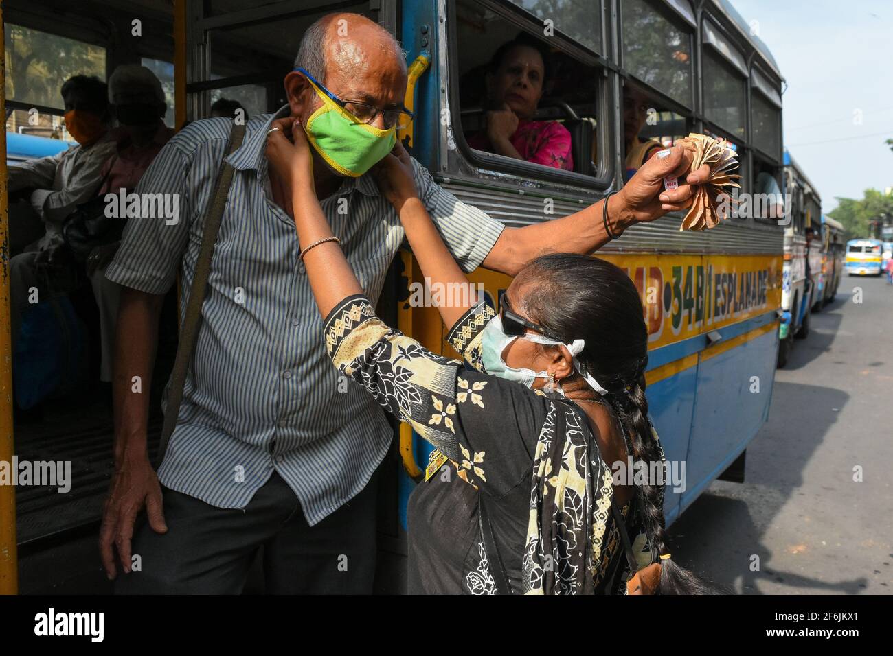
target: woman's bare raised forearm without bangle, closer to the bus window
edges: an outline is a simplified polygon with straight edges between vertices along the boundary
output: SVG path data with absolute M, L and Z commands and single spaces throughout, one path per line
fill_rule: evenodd
M 474 286 L 465 278 L 425 210 L 413 181 L 413 162 L 400 142 L 375 166 L 373 174 L 382 195 L 400 217 L 425 284 L 432 286 L 432 298 L 437 297 L 433 294 L 435 285 L 442 290 L 439 297 L 446 299 L 446 303 L 438 305 L 440 317 L 447 328 L 454 326 L 482 299 L 475 297 Z

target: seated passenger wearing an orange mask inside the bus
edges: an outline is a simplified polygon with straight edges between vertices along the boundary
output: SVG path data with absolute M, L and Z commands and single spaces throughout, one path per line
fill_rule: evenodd
M 71 262 L 64 248 L 63 223 L 80 204 L 96 194 L 102 183 L 103 165 L 115 152 L 105 83 L 76 75 L 65 81 L 61 94 L 65 128 L 78 145 L 8 169 L 9 191 L 31 189 L 33 220 L 42 222 L 44 228 L 42 237 L 10 260 L 13 345 L 29 302 L 36 299 L 39 303 L 48 298 L 51 287 L 66 289 L 74 283 Z M 37 290 L 37 295 L 33 290 Z

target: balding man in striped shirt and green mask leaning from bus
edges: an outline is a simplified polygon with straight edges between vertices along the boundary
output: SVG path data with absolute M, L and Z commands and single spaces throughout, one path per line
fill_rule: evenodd
M 138 192 L 177 194 L 180 220 L 130 221 L 107 276 L 121 298 L 115 360 L 116 474 L 100 544 L 119 592 L 238 593 L 263 546 L 273 593 L 364 593 L 375 566 L 376 469 L 392 431 L 368 394 L 339 381 L 298 255 L 291 208 L 264 148 L 277 118 L 300 118 L 314 148 L 314 184 L 334 233 L 371 299 L 404 237 L 371 166 L 393 145 L 406 87 L 404 54 L 362 16 L 325 16 L 308 29 L 288 105 L 255 117 L 229 157 L 235 169 L 213 257 L 204 322 L 177 426 L 157 476 L 146 455 L 146 394 L 158 314 L 181 271 L 185 298 L 201 224 L 221 166 L 230 120 L 198 120 L 166 145 Z M 333 97 L 334 96 L 334 99 Z M 338 104 L 371 129 L 345 130 Z M 688 158 L 688 159 L 687 159 Z M 673 150 L 610 198 L 617 233 L 689 202 L 682 185 L 666 203 L 661 178 L 688 170 Z M 689 176 L 701 181 L 705 171 Z M 466 271 L 512 275 L 544 248 L 589 253 L 608 240 L 602 202 L 544 225 L 504 228 L 439 188 L 415 163 L 415 182 L 447 246 Z M 184 302 L 185 303 L 185 302 Z M 181 303 L 181 311 L 185 305 Z M 343 391 L 346 390 L 346 391 Z M 147 524 L 133 535 L 143 506 Z

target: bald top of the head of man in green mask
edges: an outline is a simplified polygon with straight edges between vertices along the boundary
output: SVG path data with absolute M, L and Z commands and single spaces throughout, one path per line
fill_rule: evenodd
M 301 39 L 295 68 L 326 84 L 333 71 L 358 76 L 370 68 L 405 74 L 403 49 L 387 29 L 358 13 L 330 13 L 315 21 Z

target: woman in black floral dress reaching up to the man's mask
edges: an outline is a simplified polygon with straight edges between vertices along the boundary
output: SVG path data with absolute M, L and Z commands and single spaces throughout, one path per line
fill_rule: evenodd
M 463 368 L 376 316 L 321 211 L 304 129 L 288 123 L 273 122 L 267 159 L 292 187 L 330 357 L 437 448 L 409 502 L 409 592 L 613 594 L 633 558 L 636 569 L 661 559 L 663 594 L 704 592 L 669 560 L 663 485 L 615 487 L 605 464 L 664 461 L 647 419 L 647 328 L 630 278 L 585 255 L 544 255 L 513 279 L 497 315 L 470 298 L 398 144 L 376 181 L 432 289 L 466 290 L 438 307 Z M 612 504 L 633 540 L 630 561 Z

